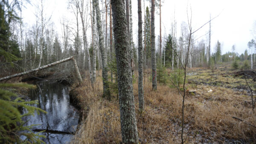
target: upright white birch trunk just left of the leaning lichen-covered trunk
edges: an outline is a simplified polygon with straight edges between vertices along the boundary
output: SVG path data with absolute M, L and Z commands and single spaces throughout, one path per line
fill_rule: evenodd
M 90 4 L 91 5 L 91 4 Z M 96 81 L 96 55 L 97 55 L 97 43 L 96 43 L 96 27 L 95 27 L 95 7 L 93 6 L 93 12 L 91 11 L 91 25 L 92 25 L 92 41 L 93 41 L 93 81 Z

